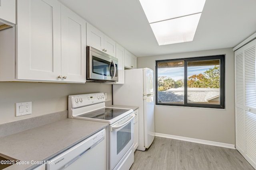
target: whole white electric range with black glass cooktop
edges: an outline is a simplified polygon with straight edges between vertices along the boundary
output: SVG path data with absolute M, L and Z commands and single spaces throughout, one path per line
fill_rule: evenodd
M 109 123 L 109 169 L 129 170 L 134 162 L 132 109 L 106 107 L 104 93 L 68 96 L 68 117 Z

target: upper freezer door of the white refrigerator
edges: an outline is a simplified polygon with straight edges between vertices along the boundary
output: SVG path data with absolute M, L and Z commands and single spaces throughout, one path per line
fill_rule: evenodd
M 143 68 L 143 96 L 154 94 L 154 72 L 150 68 Z

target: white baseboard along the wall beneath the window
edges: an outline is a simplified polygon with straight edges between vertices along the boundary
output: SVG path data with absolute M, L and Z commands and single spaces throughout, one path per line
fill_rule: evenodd
M 170 138 L 170 139 L 177 139 L 177 140 L 181 140 L 181 141 L 194 142 L 194 143 L 201 143 L 201 144 L 212 145 L 212 146 L 217 146 L 217 147 L 236 149 L 235 145 L 228 144 L 228 143 L 220 143 L 220 142 L 214 142 L 214 141 L 205 141 L 205 140 L 202 140 L 202 139 L 194 139 L 194 138 L 189 138 L 189 137 L 167 135 L 167 134 L 163 134 L 163 133 L 155 133 L 155 136 L 157 136 L 157 137 L 164 137 L 164 138 Z

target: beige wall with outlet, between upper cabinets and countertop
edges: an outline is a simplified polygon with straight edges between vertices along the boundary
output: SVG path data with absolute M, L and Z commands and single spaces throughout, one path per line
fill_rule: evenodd
M 68 95 L 106 92 L 112 104 L 112 85 L 86 82 L 0 82 L 0 124 L 68 109 Z M 32 114 L 15 117 L 15 103 L 32 102 Z

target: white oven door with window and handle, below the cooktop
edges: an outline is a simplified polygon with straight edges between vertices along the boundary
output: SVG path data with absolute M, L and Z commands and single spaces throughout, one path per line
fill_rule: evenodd
M 134 117 L 132 113 L 110 125 L 110 170 L 134 143 Z

